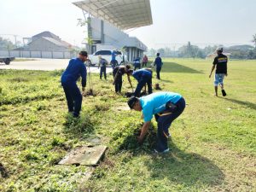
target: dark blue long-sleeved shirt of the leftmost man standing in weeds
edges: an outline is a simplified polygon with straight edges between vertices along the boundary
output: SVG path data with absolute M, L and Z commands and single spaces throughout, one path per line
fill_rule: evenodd
M 79 58 L 73 58 L 69 61 L 68 66 L 64 73 L 61 75 L 61 84 L 76 84 L 79 77 L 82 77 L 82 86 L 86 85 L 86 67 L 84 61 Z

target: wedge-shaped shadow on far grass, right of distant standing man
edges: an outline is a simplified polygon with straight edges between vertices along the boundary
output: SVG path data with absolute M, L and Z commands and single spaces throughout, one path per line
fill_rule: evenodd
M 166 62 L 164 63 L 164 70 L 161 73 L 201 73 L 190 67 L 185 67 L 183 65 L 177 64 L 176 62 Z

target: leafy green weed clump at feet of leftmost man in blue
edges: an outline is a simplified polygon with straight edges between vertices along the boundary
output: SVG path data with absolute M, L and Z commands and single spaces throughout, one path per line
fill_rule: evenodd
M 73 115 L 69 113 L 64 123 L 64 132 L 70 137 L 89 137 L 95 132 L 94 123 L 89 115 L 81 114 L 79 118 L 73 118 Z

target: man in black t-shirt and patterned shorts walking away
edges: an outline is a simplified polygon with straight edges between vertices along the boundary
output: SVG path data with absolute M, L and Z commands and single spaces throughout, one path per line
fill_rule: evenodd
M 212 71 L 209 75 L 209 78 L 212 76 L 212 72 L 214 71 L 216 67 L 215 72 L 215 79 L 214 79 L 214 89 L 215 89 L 215 96 L 218 96 L 218 84 L 221 87 L 221 92 L 223 96 L 226 96 L 226 92 L 224 90 L 224 76 L 228 76 L 227 73 L 227 63 L 228 63 L 228 57 L 226 55 L 223 55 L 223 48 L 218 48 L 217 50 L 217 56 L 214 58 Z

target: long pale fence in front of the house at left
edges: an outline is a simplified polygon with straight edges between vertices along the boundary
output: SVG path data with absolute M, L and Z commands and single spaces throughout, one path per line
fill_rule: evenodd
M 78 53 L 64 51 L 0 50 L 0 56 L 25 58 L 70 59 L 77 55 Z

